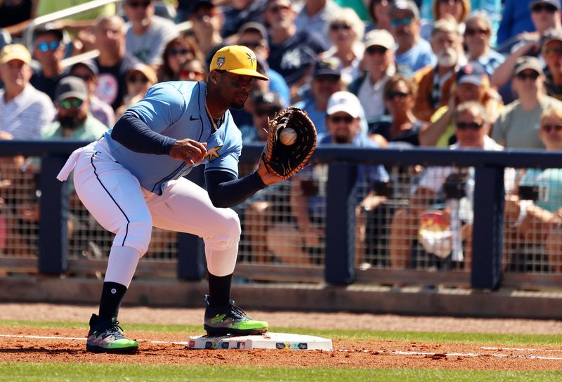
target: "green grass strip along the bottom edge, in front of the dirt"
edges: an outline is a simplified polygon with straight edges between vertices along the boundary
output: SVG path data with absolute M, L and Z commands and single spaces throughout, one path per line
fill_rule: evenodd
M 440 369 L 346 369 L 326 367 L 181 367 L 90 363 L 0 363 L 0 381 L 561 381 L 562 371 L 466 371 Z

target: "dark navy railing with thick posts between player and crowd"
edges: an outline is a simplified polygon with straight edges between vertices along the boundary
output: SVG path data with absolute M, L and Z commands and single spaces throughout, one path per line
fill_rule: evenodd
M 105 260 L 67 257 L 67 183 L 55 179 L 68 154 L 83 142 L 75 141 L 0 141 L 0 157 L 25 155 L 41 157 L 39 184 L 39 255 L 37 258 L 1 258 L 0 268 L 36 269 L 44 273 L 68 271 L 103 271 Z M 261 153 L 261 145 L 244 145 L 241 164 L 253 164 Z M 237 265 L 237 277 L 249 279 L 286 279 L 325 281 L 329 284 L 379 282 L 383 284 L 455 284 L 476 289 L 497 289 L 502 285 L 560 287 L 562 276 L 556 273 L 509 273 L 502 270 L 504 169 L 561 168 L 562 153 L 547 151 L 488 152 L 482 150 L 440 149 L 367 149 L 338 146 L 318 147 L 315 163 L 328 165 L 325 185 L 325 251 L 316 265 L 267 265 L 243 262 Z M 393 268 L 360 269 L 355 264 L 355 241 L 352 205 L 353 180 L 358 164 L 387 166 L 459 166 L 475 169 L 473 196 L 473 255 L 471 269 L 459 272 L 427 272 L 426 270 Z M 200 169 L 200 168 L 198 168 Z M 193 171 L 194 176 L 201 173 Z M 195 181 L 201 183 L 201 177 Z M 561 201 L 562 202 L 562 201 Z M 177 275 L 183 279 L 204 277 L 202 242 L 191 235 L 178 235 L 177 261 L 141 262 L 137 274 Z

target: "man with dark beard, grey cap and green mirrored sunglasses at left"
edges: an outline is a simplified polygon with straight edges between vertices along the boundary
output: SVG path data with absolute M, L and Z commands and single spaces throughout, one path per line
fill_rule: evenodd
M 55 121 L 45 126 L 41 138 L 91 141 L 103 136 L 107 126 L 91 114 L 89 98 L 88 87 L 82 79 L 73 76 L 61 79 L 55 91 Z

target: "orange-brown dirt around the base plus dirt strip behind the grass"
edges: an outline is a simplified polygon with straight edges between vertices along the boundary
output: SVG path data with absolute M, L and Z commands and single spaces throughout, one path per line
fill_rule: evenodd
M 93 307 L 0 304 L 0 320 L 85 322 Z M 123 322 L 199 324 L 201 309 L 123 308 Z M 485 331 L 488 333 L 561 333 L 562 323 L 535 320 L 473 320 L 391 315 L 251 312 L 275 327 L 336 327 L 372 330 Z M 314 318 L 314 319 L 313 319 Z M 126 327 L 126 324 L 124 325 Z M 102 362 L 178 365 L 251 365 L 277 367 L 381 367 L 538 371 L 562 370 L 562 348 L 509 348 L 502 344 L 333 341 L 334 351 L 188 350 L 188 334 L 128 331 L 138 338 L 136 355 L 86 353 L 83 329 L 0 327 L 2 362 Z M 47 338 L 44 338 L 47 337 Z M 53 338 L 54 337 L 54 338 Z M 156 342 L 158 341 L 158 342 Z

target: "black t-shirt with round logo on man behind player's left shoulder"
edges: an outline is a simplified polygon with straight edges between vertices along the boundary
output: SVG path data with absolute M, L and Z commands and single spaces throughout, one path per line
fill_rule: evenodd
M 139 62 L 132 55 L 125 55 L 112 67 L 100 65 L 97 58 L 94 60 L 100 72 L 96 95 L 100 100 L 111 105 L 113 110 L 123 104 L 123 98 L 127 91 L 125 76 Z

